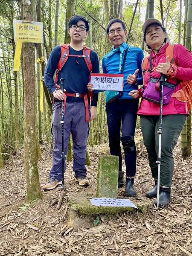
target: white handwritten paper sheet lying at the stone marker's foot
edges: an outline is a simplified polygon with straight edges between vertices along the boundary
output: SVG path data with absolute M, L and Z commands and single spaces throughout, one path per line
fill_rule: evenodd
M 96 206 L 126 206 L 126 207 L 134 207 L 137 208 L 129 199 L 116 199 L 116 198 L 91 198 L 91 204 Z

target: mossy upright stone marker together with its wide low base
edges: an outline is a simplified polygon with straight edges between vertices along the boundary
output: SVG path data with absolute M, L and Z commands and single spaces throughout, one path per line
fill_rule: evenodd
M 116 214 L 121 212 L 135 212 L 134 207 L 128 206 L 96 206 L 91 204 L 92 198 L 117 198 L 118 186 L 118 165 L 117 156 L 100 156 L 98 163 L 97 189 L 96 192 L 71 192 L 66 196 L 71 209 L 85 215 Z M 92 186 L 91 184 L 90 186 Z M 93 185 L 94 186 L 94 185 Z M 89 188 L 90 189 L 90 188 Z M 90 190 L 89 190 L 90 191 Z M 145 213 L 151 207 L 148 199 L 130 198 L 137 206 L 138 211 Z

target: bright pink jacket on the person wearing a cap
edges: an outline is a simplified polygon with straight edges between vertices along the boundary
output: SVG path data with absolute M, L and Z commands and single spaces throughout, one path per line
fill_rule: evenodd
M 151 52 L 151 60 L 153 67 L 157 67 L 158 63 L 166 62 L 166 48 L 169 44 L 165 44 L 161 49 L 160 52 L 155 55 L 155 53 Z M 176 78 L 179 80 L 192 80 L 192 55 L 183 45 L 175 44 L 174 46 L 174 58 L 175 63 L 178 67 Z M 150 68 L 150 64 L 148 62 L 148 69 Z M 144 75 L 144 86 L 146 87 L 148 84 L 150 73 L 147 72 Z M 152 77 L 159 78 L 160 73 L 156 71 L 156 69 L 151 73 Z M 170 79 L 170 82 L 175 82 Z M 177 92 L 181 89 L 181 85 L 178 84 L 175 87 L 174 92 Z M 141 89 L 140 89 L 141 91 Z M 149 102 L 146 99 L 142 99 L 140 103 L 139 110 L 137 111 L 138 115 L 159 115 L 160 114 L 160 105 L 154 102 Z M 175 97 L 170 99 L 168 105 L 163 105 L 163 115 L 170 115 L 170 114 L 189 114 L 186 108 L 186 102 L 180 102 Z

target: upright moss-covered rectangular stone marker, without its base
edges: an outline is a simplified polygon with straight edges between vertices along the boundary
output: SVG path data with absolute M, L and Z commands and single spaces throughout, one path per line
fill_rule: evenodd
M 97 174 L 97 198 L 117 198 L 118 156 L 100 156 Z

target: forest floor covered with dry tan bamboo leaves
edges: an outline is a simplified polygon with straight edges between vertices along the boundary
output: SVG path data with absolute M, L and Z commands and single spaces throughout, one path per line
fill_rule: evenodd
M 138 196 L 153 185 L 148 158 L 140 131 L 136 132 L 137 175 L 135 189 Z M 96 190 L 99 155 L 109 154 L 108 143 L 88 148 L 91 166 L 87 166 L 90 187 L 80 187 L 73 174 L 73 163 L 67 163 L 66 193 Z M 59 198 L 60 187 L 42 192 L 43 198 L 35 204 L 26 204 L 26 181 L 23 148 L 17 150 L 0 170 L 0 256 L 192 256 L 192 157 L 183 161 L 180 142 L 174 151 L 175 169 L 172 201 L 166 209 L 151 209 L 145 214 L 122 213 L 94 218 L 79 217 L 76 227 L 67 225 L 70 211 L 64 197 L 61 208 L 52 205 Z M 52 157 L 50 148 L 42 150 L 38 161 L 41 188 L 47 182 Z M 118 198 L 123 197 L 119 189 Z M 146 198 L 145 198 L 146 199 Z M 96 216 L 95 216 L 96 218 Z

